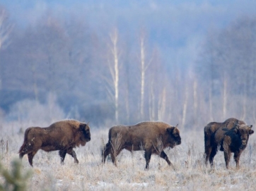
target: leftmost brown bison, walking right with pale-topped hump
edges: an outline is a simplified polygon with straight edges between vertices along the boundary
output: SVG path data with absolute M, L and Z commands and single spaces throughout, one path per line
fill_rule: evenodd
M 74 148 L 80 145 L 85 146 L 86 142 L 90 140 L 91 133 L 88 124 L 75 120 L 57 121 L 47 128 L 27 128 L 23 145 L 18 153 L 20 159 L 28 154 L 28 161 L 31 166 L 33 166 L 33 157 L 39 149 L 45 152 L 59 150 L 62 164 L 66 153 L 70 154 L 75 163 L 78 164 Z

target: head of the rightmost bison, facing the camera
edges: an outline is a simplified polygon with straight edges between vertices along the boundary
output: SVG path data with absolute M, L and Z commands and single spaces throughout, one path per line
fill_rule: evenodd
M 249 135 L 252 135 L 254 131 L 252 130 L 252 125 L 236 125 L 235 126 L 235 133 L 238 134 L 238 137 L 240 137 L 241 140 L 241 147 L 246 147 Z

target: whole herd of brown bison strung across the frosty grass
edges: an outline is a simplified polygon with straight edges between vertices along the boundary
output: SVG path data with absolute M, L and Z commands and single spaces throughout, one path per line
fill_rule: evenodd
M 236 118 L 228 118 L 223 123 L 211 122 L 204 127 L 204 156 L 205 164 L 208 161 L 214 166 L 214 156 L 220 149 L 224 152 L 226 168 L 234 153 L 236 168 L 239 168 L 240 154 L 248 144 L 252 135 L 252 125 L 246 125 L 244 121 Z M 116 157 L 122 149 L 128 151 L 145 152 L 146 168 L 149 168 L 151 154 L 158 154 L 162 159 L 172 165 L 168 156 L 163 151 L 166 147 L 175 147 L 181 144 L 178 125 L 173 126 L 163 122 L 141 122 L 136 125 L 116 125 L 110 128 L 108 142 L 102 150 L 102 161 L 110 154 L 112 163 L 117 166 Z M 39 149 L 45 152 L 59 151 L 63 164 L 66 154 L 76 158 L 75 147 L 85 146 L 91 140 L 88 123 L 75 120 L 64 120 L 52 123 L 47 128 L 31 127 L 25 130 L 24 142 L 19 150 L 22 159 L 28 154 L 28 161 L 33 166 L 33 157 Z

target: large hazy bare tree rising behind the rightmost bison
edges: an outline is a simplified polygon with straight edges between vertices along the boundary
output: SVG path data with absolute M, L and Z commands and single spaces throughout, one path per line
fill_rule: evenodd
M 209 88 L 210 118 L 219 114 L 224 119 L 235 112 L 248 120 L 256 95 L 256 19 L 238 18 L 225 29 L 211 32 L 205 45 L 200 75 Z

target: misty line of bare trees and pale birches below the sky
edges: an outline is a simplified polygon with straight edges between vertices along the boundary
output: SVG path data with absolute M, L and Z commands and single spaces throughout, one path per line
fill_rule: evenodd
M 255 18 L 208 32 L 197 61 L 182 66 L 165 59 L 148 28 L 132 35 L 118 26 L 98 31 L 82 18 L 45 13 L 21 29 L 4 10 L 2 116 L 17 101 L 43 104 L 54 94 L 66 116 L 97 125 L 167 121 L 190 128 L 231 116 L 255 121 Z

